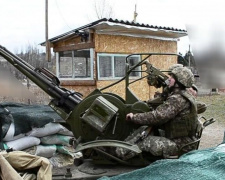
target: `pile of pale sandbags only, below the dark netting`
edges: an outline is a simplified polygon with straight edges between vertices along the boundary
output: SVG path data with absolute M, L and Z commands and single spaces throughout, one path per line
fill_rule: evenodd
M 33 128 L 17 136 L 14 136 L 15 128 L 13 127 L 15 127 L 14 123 L 11 123 L 9 131 L 3 138 L 7 148 L 21 151 L 35 146 L 36 151 L 32 154 L 47 158 L 52 157 L 56 151 L 64 152 L 63 148 L 69 147 L 69 141 L 73 138 L 72 132 L 60 123 L 50 122 L 43 127 Z

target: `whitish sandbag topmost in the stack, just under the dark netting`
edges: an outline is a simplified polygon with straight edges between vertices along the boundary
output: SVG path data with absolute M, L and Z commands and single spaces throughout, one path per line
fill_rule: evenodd
M 63 129 L 59 123 L 48 123 L 42 128 L 33 128 L 30 132 L 26 133 L 27 136 L 44 137 L 51 134 L 56 134 Z

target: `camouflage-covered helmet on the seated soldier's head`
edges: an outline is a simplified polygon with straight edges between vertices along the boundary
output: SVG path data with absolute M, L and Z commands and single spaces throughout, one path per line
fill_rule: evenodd
M 171 72 L 172 75 L 175 76 L 176 80 L 189 88 L 194 84 L 194 75 L 190 69 L 186 67 L 177 67 L 174 68 Z

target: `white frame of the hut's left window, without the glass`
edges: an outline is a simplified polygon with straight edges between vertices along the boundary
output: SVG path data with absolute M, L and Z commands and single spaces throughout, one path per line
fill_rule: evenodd
M 79 50 L 89 50 L 90 51 L 90 77 L 85 77 L 85 78 L 76 78 L 76 77 L 70 77 L 70 78 L 60 78 L 59 77 L 59 61 L 60 61 L 60 57 L 59 57 L 59 53 L 60 52 L 56 52 L 56 76 L 59 78 L 59 80 L 62 81 L 71 81 L 71 80 L 94 80 L 94 49 L 90 48 L 90 49 L 79 49 Z M 71 50 L 72 51 L 72 64 L 74 64 L 74 51 L 79 51 L 79 50 Z M 74 73 L 74 67 L 72 66 L 72 72 Z

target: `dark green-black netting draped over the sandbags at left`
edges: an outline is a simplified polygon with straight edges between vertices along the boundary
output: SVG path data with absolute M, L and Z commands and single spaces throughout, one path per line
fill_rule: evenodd
M 12 116 L 4 112 L 6 108 Z M 11 118 L 11 119 L 10 119 Z M 3 136 L 13 121 L 15 124 L 15 136 L 26 133 L 33 127 L 42 127 L 49 122 L 62 121 L 48 105 L 26 105 L 21 103 L 1 103 L 0 119 L 3 125 Z

